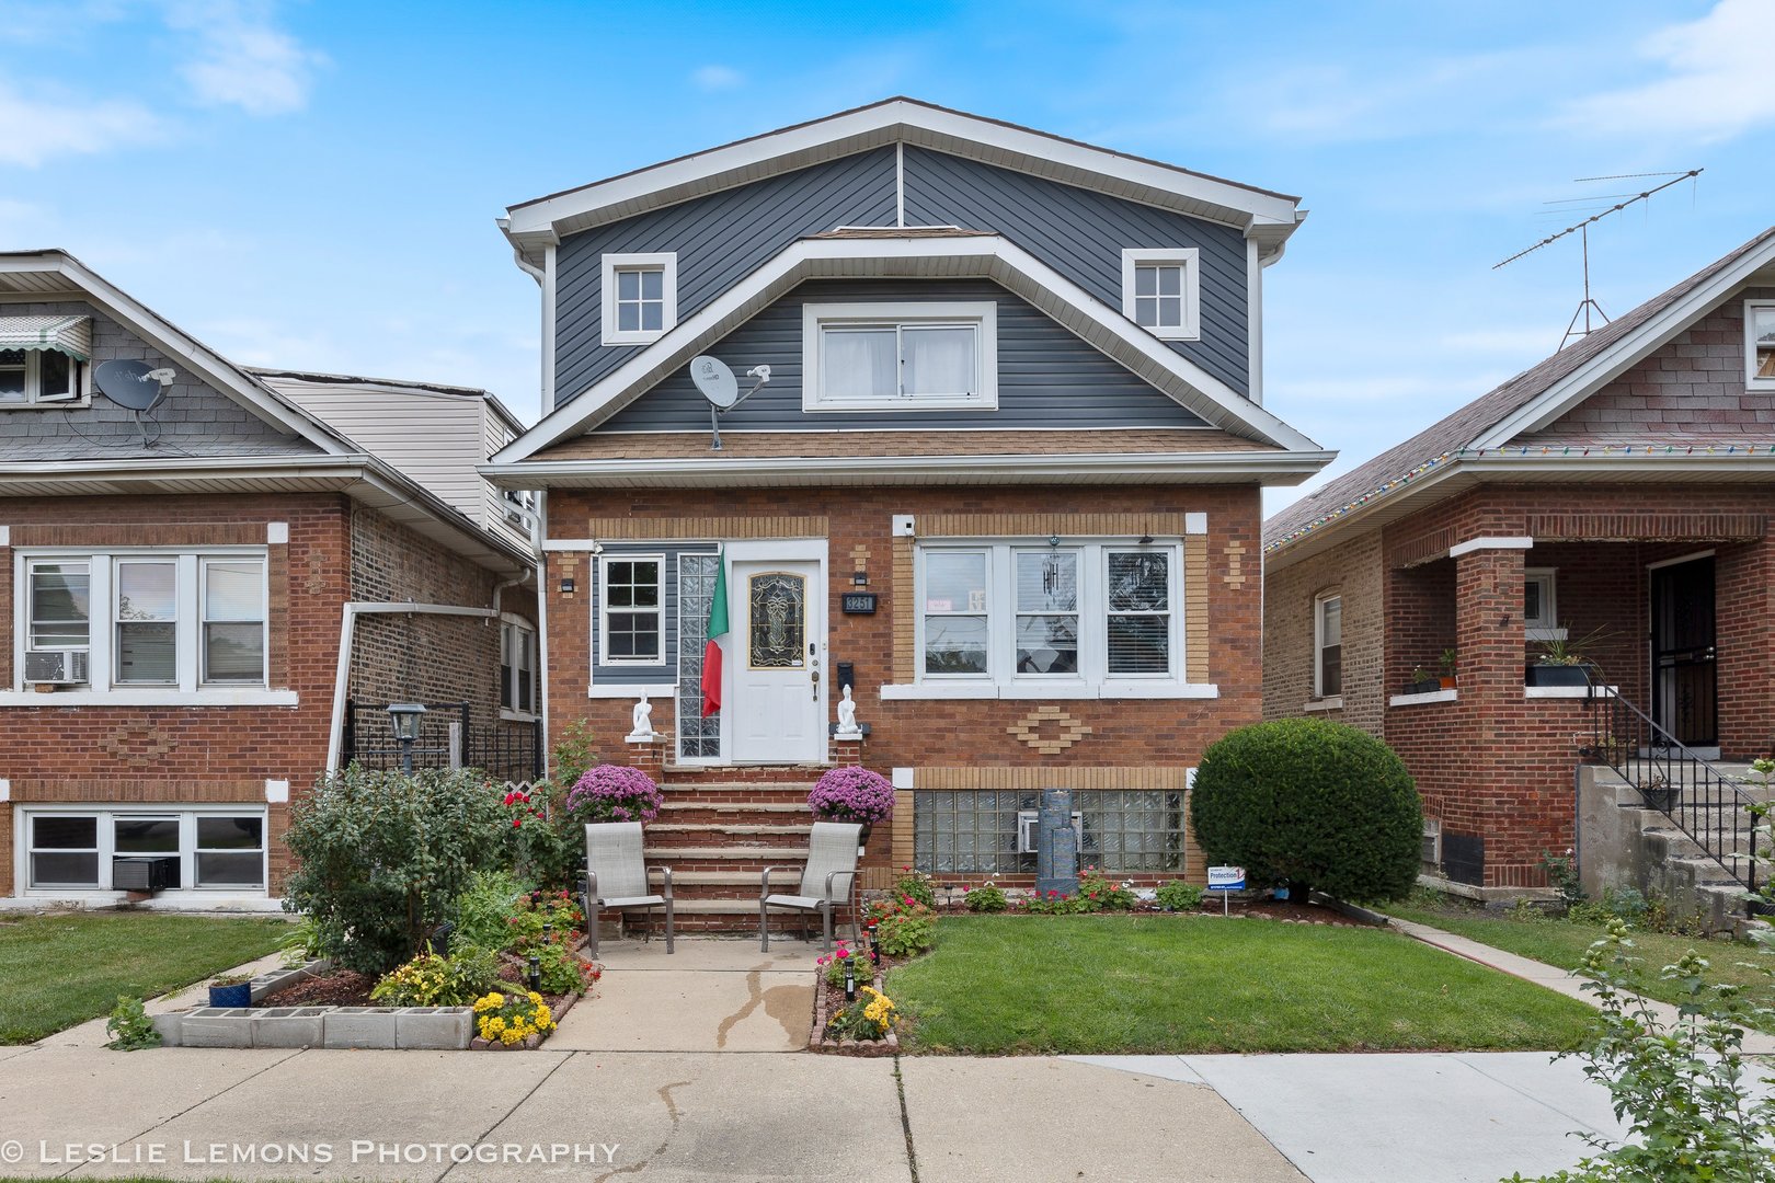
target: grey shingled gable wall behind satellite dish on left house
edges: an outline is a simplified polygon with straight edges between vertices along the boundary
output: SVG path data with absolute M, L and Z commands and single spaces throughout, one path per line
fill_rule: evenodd
M 92 365 L 137 360 L 178 374 L 167 388 L 167 397 L 144 417 L 151 440 L 146 449 L 135 413 L 94 392 L 91 406 L 0 408 L 0 459 L 279 456 L 320 450 L 307 440 L 284 435 L 234 399 L 204 385 L 188 365 L 162 355 L 89 303 L 73 300 L 0 303 L 0 316 L 91 316 Z

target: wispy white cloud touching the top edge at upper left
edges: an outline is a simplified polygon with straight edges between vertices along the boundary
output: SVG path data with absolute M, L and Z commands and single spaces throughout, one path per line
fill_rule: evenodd
M 248 115 L 282 115 L 309 101 L 325 55 L 277 28 L 268 4 L 179 0 L 167 25 L 195 35 L 193 57 L 179 67 L 204 106 L 238 106 Z

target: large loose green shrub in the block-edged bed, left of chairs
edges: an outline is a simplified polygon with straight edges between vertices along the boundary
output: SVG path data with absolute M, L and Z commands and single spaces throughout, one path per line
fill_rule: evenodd
M 470 873 L 509 866 L 501 827 L 504 807 L 479 773 L 353 764 L 291 809 L 298 866 L 284 908 L 312 917 L 327 956 L 385 974 L 424 947 Z

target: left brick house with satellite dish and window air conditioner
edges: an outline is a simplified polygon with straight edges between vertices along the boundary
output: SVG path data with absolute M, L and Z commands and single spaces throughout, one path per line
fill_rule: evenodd
M 98 392 L 106 362 L 165 371 L 140 381 L 160 401 Z M 275 906 L 289 800 L 337 763 L 344 702 L 497 720 L 501 626 L 534 628 L 527 532 L 327 419 L 71 255 L 0 254 L 7 905 L 115 901 L 115 860 L 158 857 L 176 887 L 156 906 Z M 483 431 L 456 465 L 483 502 L 485 454 Z

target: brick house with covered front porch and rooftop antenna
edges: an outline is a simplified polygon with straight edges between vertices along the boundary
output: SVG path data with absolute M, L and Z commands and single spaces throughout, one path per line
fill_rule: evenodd
M 1768 752 L 1771 507 L 1775 231 L 1273 516 L 1264 711 L 1397 748 L 1448 880 L 1544 885 L 1601 708 L 1537 653 L 1582 644 L 1663 748 Z

